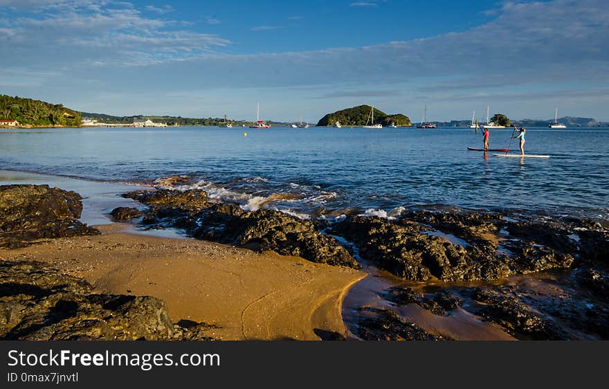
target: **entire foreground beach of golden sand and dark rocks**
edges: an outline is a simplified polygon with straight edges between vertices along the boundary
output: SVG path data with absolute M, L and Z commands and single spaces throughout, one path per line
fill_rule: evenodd
M 134 206 L 95 228 L 78 193 L 0 186 L 0 338 L 609 338 L 605 222 L 455 207 L 305 220 L 188 180 L 123 194 Z

